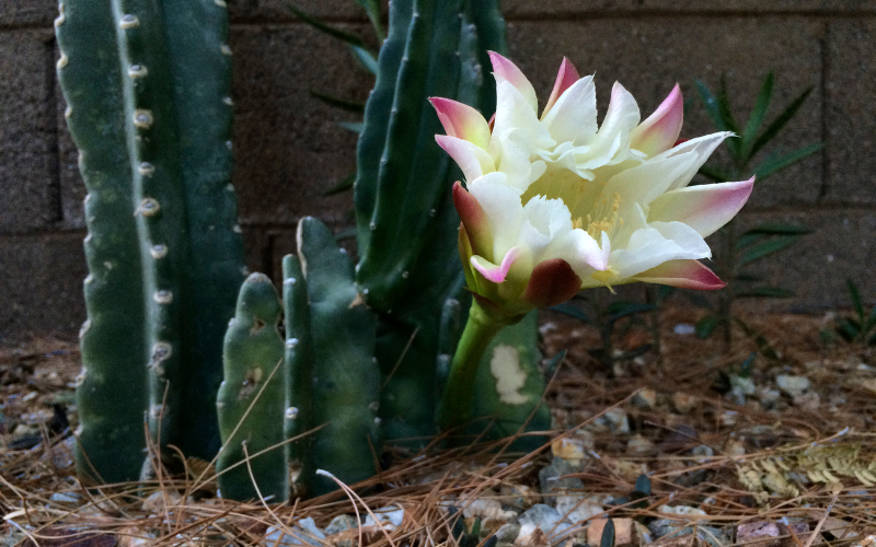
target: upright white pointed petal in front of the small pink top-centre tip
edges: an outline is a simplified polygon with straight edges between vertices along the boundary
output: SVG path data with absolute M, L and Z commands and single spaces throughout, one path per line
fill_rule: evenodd
M 557 142 L 590 142 L 597 131 L 593 77 L 581 78 L 567 89 L 544 117 L 543 124 Z

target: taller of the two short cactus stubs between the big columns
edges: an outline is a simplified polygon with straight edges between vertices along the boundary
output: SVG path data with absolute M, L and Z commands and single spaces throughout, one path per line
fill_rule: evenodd
M 287 259 L 292 267 L 295 261 Z M 298 340 L 296 349 L 311 354 L 313 361 L 293 361 L 290 377 L 296 381 L 289 406 L 298 408 L 302 424 L 324 426 L 302 454 L 307 464 L 302 485 L 320 494 L 337 485 L 314 476 L 316 467 L 347 484 L 367 479 L 377 470 L 374 456 L 382 450 L 377 414 L 380 369 L 373 357 L 374 317 L 358 293 L 353 264 L 328 228 L 315 219 L 306 218 L 298 224 L 298 264 L 301 279 L 295 284 L 307 287 L 309 322 L 300 321 L 299 309 L 287 309 L 287 316 L 292 317 L 290 335 Z M 301 393 L 308 387 L 310 393 Z M 300 406 L 308 403 L 309 409 Z

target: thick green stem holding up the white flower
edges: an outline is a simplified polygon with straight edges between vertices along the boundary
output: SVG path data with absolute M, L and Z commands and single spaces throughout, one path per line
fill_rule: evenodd
M 441 431 L 462 426 L 471 420 L 477 365 L 493 338 L 499 330 L 512 323 L 515 322 L 491 317 L 476 300 L 472 302 L 469 322 L 465 323 L 462 338 L 457 346 L 453 361 L 450 363 L 447 385 L 438 405 L 437 420 Z

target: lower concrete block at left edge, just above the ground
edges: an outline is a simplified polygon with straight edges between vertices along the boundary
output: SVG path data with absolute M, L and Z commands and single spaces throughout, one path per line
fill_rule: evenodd
M 74 338 L 85 321 L 82 233 L 0 237 L 0 345 Z

